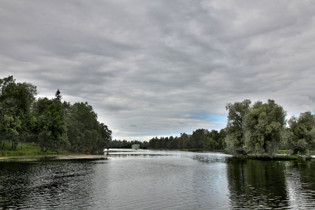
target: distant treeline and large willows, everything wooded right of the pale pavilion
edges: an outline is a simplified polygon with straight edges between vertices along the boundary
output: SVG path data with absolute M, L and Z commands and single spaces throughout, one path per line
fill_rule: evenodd
M 291 159 L 309 156 L 315 147 L 315 116 L 306 111 L 286 119 L 287 112 L 274 100 L 267 103 L 249 99 L 226 104 L 226 128 L 220 131 L 197 129 L 179 137 L 152 138 L 140 144 L 151 149 L 226 150 L 234 156 Z M 290 153 L 292 156 L 276 156 Z

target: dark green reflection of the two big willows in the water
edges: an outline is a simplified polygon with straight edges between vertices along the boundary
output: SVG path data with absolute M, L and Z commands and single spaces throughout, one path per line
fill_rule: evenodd
M 234 209 L 291 209 L 283 162 L 231 159 L 228 189 Z M 299 209 L 299 208 L 297 208 Z

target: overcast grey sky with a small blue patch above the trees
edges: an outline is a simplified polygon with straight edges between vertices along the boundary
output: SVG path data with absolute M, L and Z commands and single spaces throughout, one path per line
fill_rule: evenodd
M 1 0 L 0 77 L 87 101 L 113 139 L 226 127 L 226 103 L 315 109 L 315 1 Z

